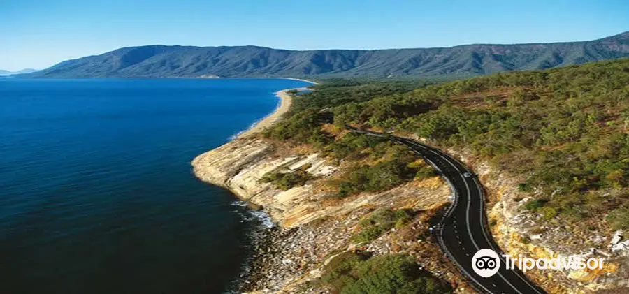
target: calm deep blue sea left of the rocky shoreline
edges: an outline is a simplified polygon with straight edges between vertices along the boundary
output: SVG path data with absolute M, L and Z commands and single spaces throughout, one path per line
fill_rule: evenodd
M 219 293 L 259 221 L 190 161 L 293 80 L 0 80 L 0 293 Z

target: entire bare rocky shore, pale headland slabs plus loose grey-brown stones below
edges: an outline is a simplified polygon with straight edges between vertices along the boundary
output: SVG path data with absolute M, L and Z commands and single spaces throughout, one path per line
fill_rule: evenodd
M 317 279 L 321 267 L 336 254 L 366 250 L 374 254 L 408 253 L 438 277 L 469 293 L 436 244 L 426 240 L 432 210 L 447 203 L 449 187 L 439 177 L 414 181 L 379 193 L 361 193 L 331 200 L 324 188 L 338 167 L 315 153 L 299 154 L 259 138 L 239 138 L 198 156 L 194 173 L 204 182 L 223 186 L 270 214 L 280 228 L 254 253 L 253 277 L 243 291 L 293 291 L 319 293 L 308 281 Z M 261 182 L 268 172 L 306 168 L 315 179 L 287 191 Z M 401 229 L 391 230 L 368 245 L 353 244 L 360 219 L 379 207 L 408 208 L 416 218 Z M 429 234 L 428 234 L 429 235 Z M 424 237 L 422 237 L 424 236 Z M 468 289 L 468 290 L 466 290 Z

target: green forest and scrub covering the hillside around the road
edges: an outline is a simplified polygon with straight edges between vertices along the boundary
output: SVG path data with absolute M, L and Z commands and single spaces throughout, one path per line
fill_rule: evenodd
M 359 126 L 467 150 L 523 176 L 519 190 L 535 198 L 526 207 L 547 219 L 605 216 L 611 228 L 629 228 L 628 102 L 629 59 L 442 84 L 337 80 L 296 96 L 265 135 L 340 160 L 384 158 L 356 166 L 359 178 L 337 183 L 339 196 L 426 174 L 389 142 L 339 135 Z

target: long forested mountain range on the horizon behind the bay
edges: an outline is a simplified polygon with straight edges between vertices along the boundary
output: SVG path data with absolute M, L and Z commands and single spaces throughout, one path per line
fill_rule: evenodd
M 387 50 L 257 46 L 124 47 L 73 59 L 31 78 L 439 77 L 533 70 L 629 57 L 629 31 L 594 41 Z

